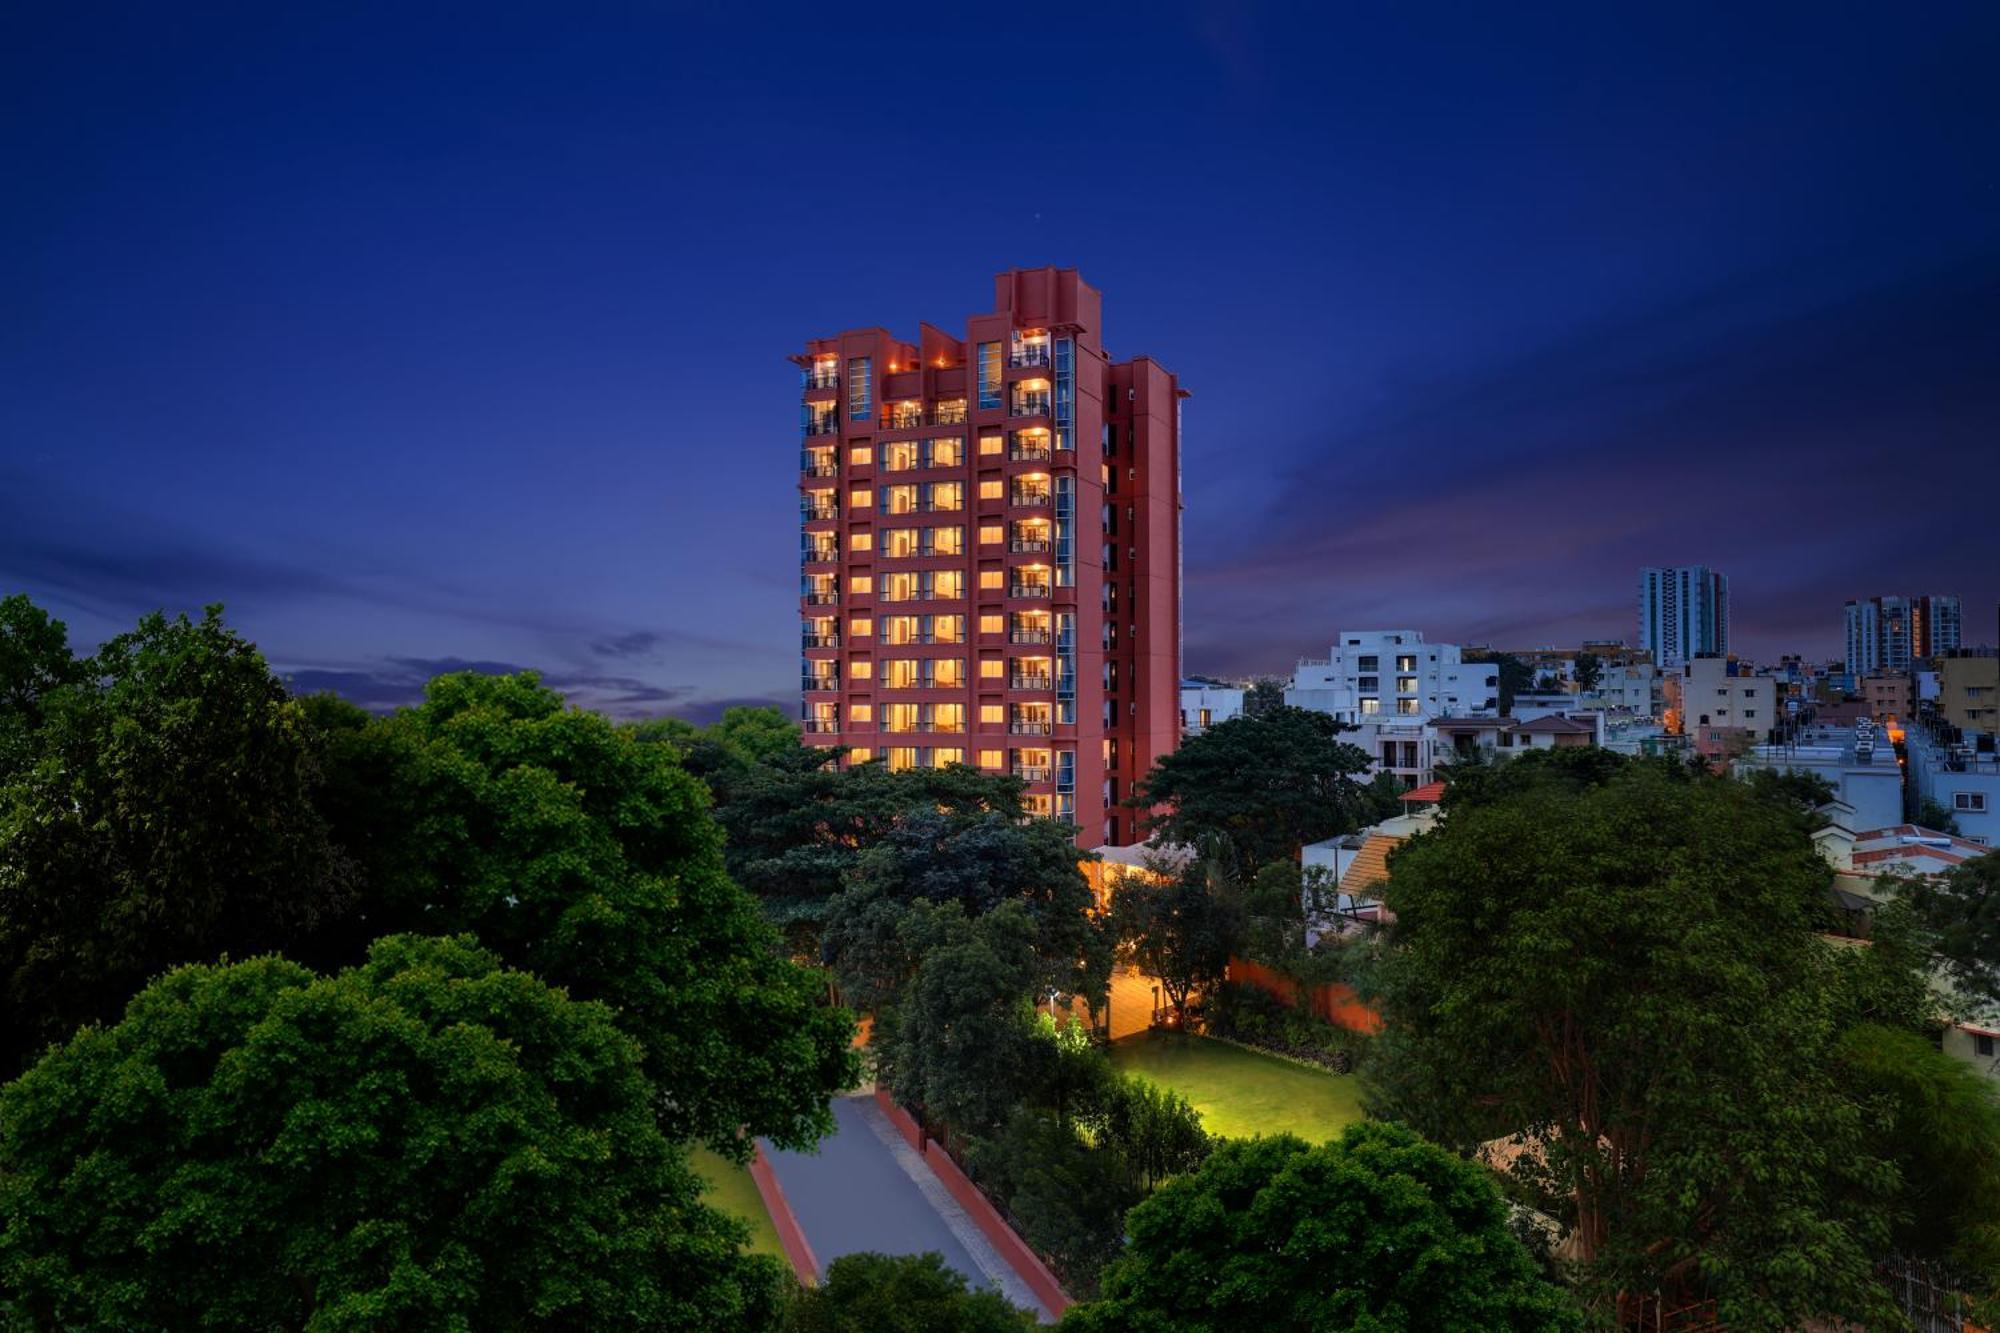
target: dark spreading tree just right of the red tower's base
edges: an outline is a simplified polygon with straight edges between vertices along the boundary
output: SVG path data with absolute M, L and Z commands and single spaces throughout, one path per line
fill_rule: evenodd
M 1228 871 L 1248 877 L 1364 823 L 1372 807 L 1356 775 L 1372 761 L 1342 731 L 1328 713 L 1288 705 L 1234 717 L 1162 757 L 1132 805 L 1156 811 L 1152 837 L 1218 847 Z

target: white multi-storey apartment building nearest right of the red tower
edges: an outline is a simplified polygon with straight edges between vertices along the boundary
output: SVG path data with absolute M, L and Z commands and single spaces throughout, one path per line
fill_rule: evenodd
M 1374 719 L 1494 717 L 1500 669 L 1466 662 L 1458 644 L 1424 642 L 1418 630 L 1352 630 L 1324 658 L 1300 658 L 1284 701 L 1342 723 Z

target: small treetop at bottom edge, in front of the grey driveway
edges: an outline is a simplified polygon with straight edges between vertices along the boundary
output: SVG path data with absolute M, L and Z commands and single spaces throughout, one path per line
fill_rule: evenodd
M 1032 1311 L 998 1291 L 970 1291 L 938 1253 L 840 1255 L 826 1281 L 800 1287 L 784 1333 L 1028 1333 Z

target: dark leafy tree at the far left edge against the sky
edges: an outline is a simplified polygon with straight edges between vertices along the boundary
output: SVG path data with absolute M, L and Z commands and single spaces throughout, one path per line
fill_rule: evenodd
M 40 644 L 10 687 L 38 721 L 0 779 L 14 1073 L 168 967 L 328 929 L 354 877 L 316 807 L 316 733 L 220 606 L 150 614 L 74 671 L 32 614 L 10 602 L 8 618 L 28 624 L 10 640 Z

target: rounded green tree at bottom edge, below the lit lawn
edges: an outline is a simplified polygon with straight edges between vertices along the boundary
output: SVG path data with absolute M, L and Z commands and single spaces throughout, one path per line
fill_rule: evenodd
M 1064 1333 L 1582 1327 L 1508 1231 L 1484 1167 L 1398 1125 L 1324 1147 L 1230 1141 L 1132 1209 L 1104 1297 Z

